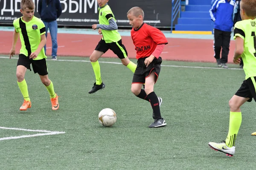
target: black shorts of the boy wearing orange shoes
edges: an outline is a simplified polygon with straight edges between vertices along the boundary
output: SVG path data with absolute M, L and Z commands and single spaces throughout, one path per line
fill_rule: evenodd
M 19 55 L 17 66 L 23 65 L 24 67 L 26 67 L 31 71 L 31 68 L 30 68 L 31 63 L 32 63 L 32 68 L 35 74 L 38 73 L 40 76 L 45 76 L 48 74 L 46 59 L 33 60 L 33 59 L 29 59 L 29 57 L 26 57 L 23 54 Z

